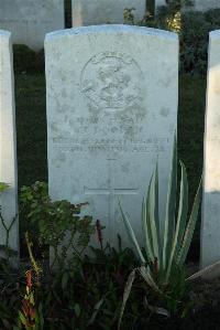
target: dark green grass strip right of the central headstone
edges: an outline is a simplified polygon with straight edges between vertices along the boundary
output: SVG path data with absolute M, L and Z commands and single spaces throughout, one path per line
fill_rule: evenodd
M 185 162 L 195 195 L 202 171 L 206 77 L 183 75 L 179 79 L 178 152 Z

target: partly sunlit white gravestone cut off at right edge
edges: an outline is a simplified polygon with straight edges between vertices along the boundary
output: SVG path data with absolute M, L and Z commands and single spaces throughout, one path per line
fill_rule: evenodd
M 205 131 L 201 267 L 220 260 L 220 30 L 210 33 Z M 218 275 L 220 270 L 218 272 Z

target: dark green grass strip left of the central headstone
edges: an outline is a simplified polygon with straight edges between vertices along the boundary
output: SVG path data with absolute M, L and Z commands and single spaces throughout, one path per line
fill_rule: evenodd
M 19 187 L 47 180 L 45 98 L 43 75 L 15 76 Z

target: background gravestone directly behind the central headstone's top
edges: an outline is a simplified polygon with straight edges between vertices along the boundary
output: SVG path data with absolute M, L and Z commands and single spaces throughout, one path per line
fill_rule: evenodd
M 123 10 L 134 8 L 135 20 L 145 13 L 145 0 L 72 0 L 73 26 L 123 23 Z

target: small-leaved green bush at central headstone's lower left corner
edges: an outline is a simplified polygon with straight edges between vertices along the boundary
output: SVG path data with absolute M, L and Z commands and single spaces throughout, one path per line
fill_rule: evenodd
M 81 207 L 86 204 L 74 205 L 65 200 L 53 202 L 48 196 L 47 184 L 38 181 L 31 187 L 23 187 L 20 200 L 24 216 L 37 231 L 34 235 L 38 235 L 40 244 L 53 249 L 51 269 L 57 263 L 59 267 L 65 266 L 68 253 L 72 253 L 68 263 L 81 258 L 95 233 L 91 216 L 80 217 Z

